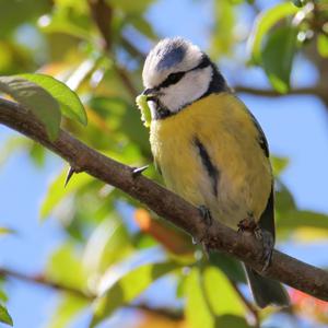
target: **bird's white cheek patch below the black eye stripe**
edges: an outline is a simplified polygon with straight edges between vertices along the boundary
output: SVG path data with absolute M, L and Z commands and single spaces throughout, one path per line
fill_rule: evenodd
M 176 84 L 163 90 L 161 103 L 172 113 L 201 97 L 208 90 L 212 79 L 212 68 L 207 67 L 187 72 Z

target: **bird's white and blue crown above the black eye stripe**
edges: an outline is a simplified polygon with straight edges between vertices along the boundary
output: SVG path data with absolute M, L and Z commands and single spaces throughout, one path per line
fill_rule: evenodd
M 147 56 L 142 80 L 145 87 L 154 87 L 172 72 L 196 67 L 202 57 L 200 49 L 181 37 L 162 39 Z

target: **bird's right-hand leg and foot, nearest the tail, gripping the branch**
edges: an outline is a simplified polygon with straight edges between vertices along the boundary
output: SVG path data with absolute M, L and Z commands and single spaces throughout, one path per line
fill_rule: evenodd
M 241 233 L 251 233 L 251 235 L 255 236 L 256 239 L 260 241 L 262 244 L 262 255 L 261 255 L 261 262 L 263 263 L 263 267 L 261 269 L 261 272 L 265 272 L 271 262 L 272 251 L 274 247 L 274 238 L 272 234 L 261 229 L 254 220 L 253 215 L 248 216 L 247 219 L 242 220 L 238 223 L 238 232 Z

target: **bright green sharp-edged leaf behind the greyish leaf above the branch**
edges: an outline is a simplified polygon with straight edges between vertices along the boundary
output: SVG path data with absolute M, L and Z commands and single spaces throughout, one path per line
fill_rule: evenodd
M 80 98 L 65 83 L 45 74 L 20 74 L 20 77 L 34 82 L 49 92 L 59 103 L 63 116 L 78 120 L 84 126 L 87 124 L 86 113 Z

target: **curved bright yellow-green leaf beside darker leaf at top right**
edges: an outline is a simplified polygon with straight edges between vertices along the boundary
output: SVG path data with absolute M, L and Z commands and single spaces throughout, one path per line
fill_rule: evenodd
M 284 2 L 258 15 L 248 39 L 248 48 L 250 49 L 251 59 L 255 63 L 260 63 L 262 42 L 269 30 L 281 19 L 295 14 L 297 11 L 298 9 L 291 2 Z

